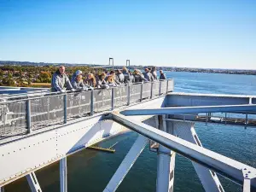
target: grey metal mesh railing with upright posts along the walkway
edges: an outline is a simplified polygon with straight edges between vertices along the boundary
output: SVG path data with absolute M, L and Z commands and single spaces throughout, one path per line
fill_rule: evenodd
M 12 96 L 0 103 L 0 139 L 24 135 L 70 119 L 127 106 L 173 90 L 173 80 L 124 84 L 109 89 L 46 93 L 44 96 Z

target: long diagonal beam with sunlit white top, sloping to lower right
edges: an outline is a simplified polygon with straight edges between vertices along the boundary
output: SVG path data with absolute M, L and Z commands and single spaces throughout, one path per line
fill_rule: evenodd
M 112 113 L 112 117 L 113 120 L 119 124 L 125 125 L 133 131 L 137 131 L 139 134 L 154 140 L 156 143 L 160 143 L 166 148 L 170 148 L 202 166 L 207 166 L 209 169 L 222 174 L 224 177 L 229 177 L 231 180 L 234 180 L 241 185 L 244 180 L 241 172 L 242 169 L 246 168 L 247 170 L 250 170 L 250 172 L 256 172 L 256 169 L 252 166 L 247 166 L 241 162 L 225 157 L 224 155 L 212 152 L 207 148 L 201 148 L 200 146 L 184 141 L 183 139 L 172 136 L 164 131 L 157 130 L 152 126 L 136 122 L 132 118 L 125 117 L 122 114 Z M 253 180 L 251 184 L 256 188 L 255 180 Z

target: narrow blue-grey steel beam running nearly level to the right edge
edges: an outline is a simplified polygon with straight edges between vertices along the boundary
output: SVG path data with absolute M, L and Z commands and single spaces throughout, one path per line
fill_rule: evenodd
M 247 105 L 222 105 L 222 106 L 199 106 L 199 107 L 171 107 L 171 108 L 146 108 L 128 109 L 121 113 L 124 115 L 157 115 L 174 113 L 213 113 L 213 112 L 256 112 L 256 104 Z

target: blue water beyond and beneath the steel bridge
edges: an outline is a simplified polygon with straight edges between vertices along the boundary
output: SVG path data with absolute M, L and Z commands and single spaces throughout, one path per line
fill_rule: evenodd
M 167 72 L 166 75 L 168 78 L 174 79 L 177 92 L 256 95 L 256 76 L 170 72 Z M 245 130 L 243 127 L 231 125 L 195 124 L 195 130 L 205 148 L 256 167 L 256 129 Z M 85 149 L 68 157 L 68 191 L 101 192 L 136 138 L 137 133 L 129 132 L 101 143 L 102 146 L 109 147 L 113 143 L 119 142 L 114 147 L 116 149 L 114 154 Z M 58 163 L 47 166 L 36 174 L 44 192 L 60 191 Z M 219 178 L 225 191 L 241 191 L 241 186 L 236 183 L 232 183 L 224 177 Z M 174 191 L 204 191 L 191 162 L 180 155 L 177 155 L 176 159 L 174 181 Z M 117 191 L 153 192 L 155 183 L 156 154 L 150 152 L 147 147 Z M 5 186 L 5 191 L 30 192 L 30 189 L 26 179 L 21 178 Z

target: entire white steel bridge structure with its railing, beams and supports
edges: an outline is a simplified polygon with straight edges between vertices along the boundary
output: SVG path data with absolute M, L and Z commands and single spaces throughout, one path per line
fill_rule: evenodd
M 240 183 L 244 191 L 253 191 L 253 167 L 203 148 L 194 122 L 180 122 L 173 115 L 254 114 L 256 96 L 183 94 L 172 90 L 173 81 L 168 79 L 109 90 L 5 98 L 0 103 L 0 186 L 26 176 L 32 191 L 41 191 L 34 172 L 60 160 L 61 192 L 67 192 L 67 156 L 128 128 L 137 131 L 139 137 L 104 192 L 118 188 L 148 139 L 159 143 L 158 192 L 174 189 L 176 153 L 192 160 L 206 191 L 224 191 L 215 172 Z M 26 158 L 30 156 L 33 158 Z

